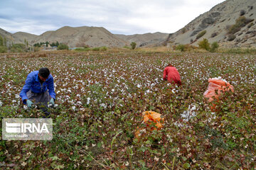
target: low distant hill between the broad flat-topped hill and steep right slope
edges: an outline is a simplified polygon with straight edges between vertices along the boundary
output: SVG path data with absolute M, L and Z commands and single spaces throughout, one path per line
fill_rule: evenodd
M 118 38 L 131 42 L 136 42 L 137 47 L 149 47 L 159 44 L 169 37 L 168 33 L 145 33 L 145 34 L 134 34 L 134 35 L 121 35 L 116 34 Z

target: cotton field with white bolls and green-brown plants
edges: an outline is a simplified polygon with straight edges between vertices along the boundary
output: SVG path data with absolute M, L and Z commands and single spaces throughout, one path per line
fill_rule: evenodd
M 28 73 L 41 67 L 50 69 L 56 94 L 56 106 L 50 108 L 53 140 L 2 142 L 0 166 L 256 168 L 255 55 L 107 51 L 0 60 L 1 118 L 41 117 L 36 108 L 26 110 L 18 96 Z M 169 63 L 178 69 L 182 86 L 163 81 Z M 214 77 L 235 89 L 213 101 L 215 112 L 203 97 Z M 149 130 L 142 121 L 144 111 L 161 113 L 163 128 Z M 139 140 L 134 137 L 138 128 L 144 129 Z

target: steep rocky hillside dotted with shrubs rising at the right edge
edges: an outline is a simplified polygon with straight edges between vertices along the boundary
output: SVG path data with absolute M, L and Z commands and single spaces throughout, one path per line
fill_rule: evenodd
M 255 0 L 226 0 L 170 34 L 165 43 L 198 45 L 206 38 L 223 47 L 256 47 L 255 19 Z

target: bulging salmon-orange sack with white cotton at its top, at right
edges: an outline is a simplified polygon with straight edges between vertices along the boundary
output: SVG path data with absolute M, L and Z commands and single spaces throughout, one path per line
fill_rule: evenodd
M 213 101 L 214 98 L 216 98 L 217 101 L 219 101 L 219 96 L 220 94 L 223 93 L 223 91 L 234 92 L 234 87 L 230 85 L 227 81 L 223 81 L 220 77 L 218 79 L 217 78 L 209 79 L 208 82 L 209 82 L 208 89 L 206 90 L 206 92 L 204 92 L 203 96 L 205 98 L 208 98 L 209 102 Z M 218 90 L 217 94 L 215 93 L 215 90 Z M 212 111 L 215 110 L 215 105 L 213 105 L 211 110 Z

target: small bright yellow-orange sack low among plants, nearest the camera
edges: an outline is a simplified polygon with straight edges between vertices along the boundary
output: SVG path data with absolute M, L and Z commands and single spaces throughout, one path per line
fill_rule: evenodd
M 161 122 L 164 122 L 164 118 L 161 118 L 160 113 L 156 113 L 154 111 L 145 111 L 142 113 L 142 116 L 143 116 L 144 123 L 146 123 L 147 127 L 150 127 L 151 121 L 156 123 L 156 127 L 151 127 L 151 130 L 159 130 L 159 129 L 163 128 L 163 125 L 161 124 Z M 151 121 L 149 121 L 149 120 L 151 120 Z M 137 127 L 137 130 L 135 132 L 135 137 L 137 139 L 141 138 L 141 134 L 140 134 L 141 131 L 146 132 L 146 130 L 144 130 L 143 128 Z

